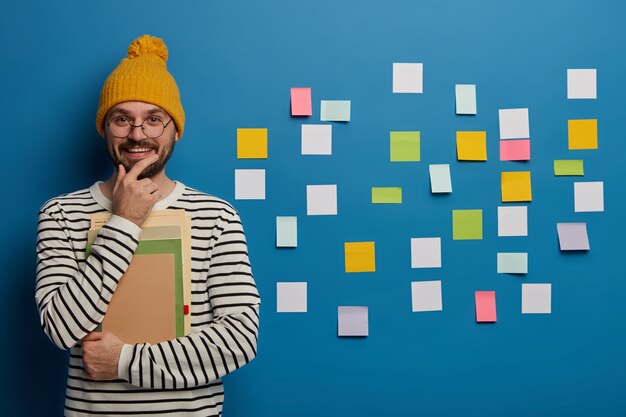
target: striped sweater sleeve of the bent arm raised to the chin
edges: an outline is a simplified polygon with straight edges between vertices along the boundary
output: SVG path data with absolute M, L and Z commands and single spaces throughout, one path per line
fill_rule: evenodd
M 39 212 L 35 300 L 41 326 L 59 348 L 74 347 L 102 321 L 140 234 L 137 225 L 114 215 L 81 263 L 61 216 Z

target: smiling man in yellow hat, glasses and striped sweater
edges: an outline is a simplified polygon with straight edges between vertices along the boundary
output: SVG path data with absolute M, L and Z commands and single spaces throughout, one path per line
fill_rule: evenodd
M 36 301 L 50 339 L 70 349 L 66 416 L 221 415 L 221 377 L 256 356 L 259 295 L 243 228 L 227 202 L 169 179 L 183 135 L 178 87 L 162 40 L 144 35 L 109 75 L 96 128 L 115 170 L 89 189 L 41 208 Z M 192 219 L 191 334 L 124 344 L 94 332 L 128 267 L 152 210 Z M 110 211 L 85 256 L 93 213 Z

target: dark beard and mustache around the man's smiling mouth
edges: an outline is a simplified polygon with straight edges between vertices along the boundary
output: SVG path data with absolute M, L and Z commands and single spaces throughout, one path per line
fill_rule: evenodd
M 113 165 L 117 169 L 117 167 L 121 164 L 126 170 L 126 172 L 130 171 L 132 167 L 135 166 L 137 162 L 139 162 L 139 160 L 124 158 L 122 156 L 122 151 L 124 151 L 125 149 L 139 146 L 142 148 L 152 149 L 159 155 L 159 158 L 154 163 L 148 165 L 137 176 L 137 179 L 141 180 L 144 178 L 152 178 L 165 169 L 165 164 L 167 164 L 167 161 L 172 156 L 172 153 L 174 153 L 174 146 L 176 145 L 176 138 L 174 135 L 175 134 L 172 134 L 172 136 L 169 137 L 165 141 L 160 151 L 159 151 L 159 145 L 156 143 L 154 139 L 143 139 L 143 140 L 138 140 L 138 141 L 124 139 L 122 142 L 118 143 L 117 145 L 114 145 L 112 141 L 109 140 L 108 137 L 105 137 L 105 139 L 106 139 L 107 151 L 109 152 L 109 157 L 111 158 L 111 161 L 113 161 Z

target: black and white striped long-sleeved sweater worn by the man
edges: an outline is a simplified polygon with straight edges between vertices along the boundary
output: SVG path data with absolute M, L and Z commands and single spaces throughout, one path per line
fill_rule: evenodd
M 80 341 L 102 321 L 137 248 L 141 229 L 112 216 L 85 257 L 91 215 L 112 204 L 91 188 L 48 201 L 39 212 L 35 299 L 41 325 L 70 350 L 66 416 L 219 416 L 221 377 L 256 356 L 259 294 L 235 209 L 176 183 L 154 209 L 192 219 L 191 334 L 158 344 L 125 344 L 114 381 L 83 375 Z

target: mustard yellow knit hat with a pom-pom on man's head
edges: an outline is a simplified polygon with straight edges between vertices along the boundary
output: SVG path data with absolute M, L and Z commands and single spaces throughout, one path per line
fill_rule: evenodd
M 128 47 L 128 56 L 104 82 L 96 115 L 96 129 L 104 136 L 103 119 L 111 107 L 125 101 L 155 104 L 174 119 L 183 136 L 185 112 L 174 77 L 167 71 L 167 46 L 162 39 L 143 35 Z

